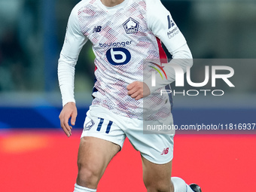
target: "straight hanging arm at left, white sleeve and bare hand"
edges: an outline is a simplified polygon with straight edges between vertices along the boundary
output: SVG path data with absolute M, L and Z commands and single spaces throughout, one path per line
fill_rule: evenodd
M 72 132 L 69 118 L 71 118 L 72 125 L 75 125 L 75 119 L 78 114 L 74 96 L 75 65 L 81 48 L 87 42 L 87 37 L 81 32 L 79 26 L 77 7 L 70 14 L 65 41 L 58 62 L 59 89 L 63 106 L 59 114 L 59 120 L 62 130 L 67 136 L 71 136 Z

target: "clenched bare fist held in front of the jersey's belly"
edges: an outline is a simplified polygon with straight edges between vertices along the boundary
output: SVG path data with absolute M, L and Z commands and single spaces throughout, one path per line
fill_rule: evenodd
M 136 100 L 142 99 L 143 97 L 149 96 L 151 94 L 148 85 L 142 81 L 134 81 L 132 84 L 127 86 L 127 90 L 128 95 Z

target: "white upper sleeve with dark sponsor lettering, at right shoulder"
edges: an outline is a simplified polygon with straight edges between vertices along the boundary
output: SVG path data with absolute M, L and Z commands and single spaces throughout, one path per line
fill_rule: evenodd
M 148 28 L 157 38 L 160 38 L 169 53 L 172 54 L 187 43 L 178 26 L 172 20 L 171 14 L 160 0 L 148 0 L 147 13 Z

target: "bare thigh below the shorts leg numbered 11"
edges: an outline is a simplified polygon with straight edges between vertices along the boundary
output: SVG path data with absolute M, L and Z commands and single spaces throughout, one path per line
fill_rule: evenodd
M 113 142 L 91 136 L 82 137 L 78 150 L 78 171 L 101 178 L 118 151 L 120 146 Z

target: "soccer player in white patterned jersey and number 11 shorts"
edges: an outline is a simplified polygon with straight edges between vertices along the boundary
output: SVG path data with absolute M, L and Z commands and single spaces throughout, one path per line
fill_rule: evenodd
M 187 42 L 169 11 L 160 0 L 82 0 L 73 8 L 58 65 L 63 105 L 59 119 L 67 136 L 72 135 L 77 116 L 75 64 L 88 40 L 96 55 L 96 81 L 81 135 L 74 191 L 96 191 L 126 137 L 142 155 L 148 192 L 201 191 L 197 184 L 189 186 L 181 178 L 171 178 L 173 134 L 143 134 L 145 99 L 154 101 L 148 120 L 172 124 L 171 99 L 156 90 L 175 79 L 169 70 L 167 79 L 155 86 L 143 82 L 145 59 L 163 58 L 162 41 L 173 59 L 183 60 L 178 63 L 184 72 L 191 66 Z

